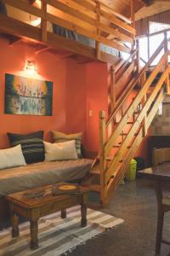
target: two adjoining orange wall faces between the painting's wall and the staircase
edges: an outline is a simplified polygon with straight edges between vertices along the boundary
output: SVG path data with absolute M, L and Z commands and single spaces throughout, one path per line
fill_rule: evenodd
M 66 131 L 82 131 L 82 143 L 89 151 L 99 149 L 99 110 L 107 113 L 107 76 L 106 64 L 67 61 Z

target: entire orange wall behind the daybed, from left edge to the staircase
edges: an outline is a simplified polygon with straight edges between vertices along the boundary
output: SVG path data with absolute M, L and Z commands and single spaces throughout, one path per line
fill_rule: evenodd
M 51 141 L 51 130 L 82 131 L 82 142 L 88 150 L 99 148 L 99 110 L 107 112 L 107 65 L 90 62 L 78 64 L 71 59 L 59 59 L 48 52 L 36 54 L 26 44 L 9 45 L 0 39 L 0 148 L 8 147 L 7 132 L 27 133 L 45 131 Z M 23 75 L 26 59 L 37 62 L 37 79 L 54 82 L 53 116 L 4 114 L 4 74 Z M 24 74 L 26 75 L 26 74 Z M 92 117 L 88 116 L 89 109 Z

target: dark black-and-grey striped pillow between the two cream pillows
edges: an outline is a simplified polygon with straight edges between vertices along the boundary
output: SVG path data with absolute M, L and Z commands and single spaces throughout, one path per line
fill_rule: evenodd
M 43 131 L 29 134 L 7 133 L 11 147 L 21 145 L 26 164 L 41 162 L 45 159 Z

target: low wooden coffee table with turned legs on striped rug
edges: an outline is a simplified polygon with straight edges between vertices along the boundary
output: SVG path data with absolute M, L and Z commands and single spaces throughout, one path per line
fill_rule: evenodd
M 20 214 L 21 216 L 30 220 L 31 249 L 37 249 L 38 218 L 58 211 L 61 211 L 61 218 L 66 218 L 66 208 L 77 205 L 81 205 L 81 226 L 85 227 L 87 225 L 87 203 L 89 189 L 82 186 L 79 188 L 80 193 L 75 195 L 52 195 L 51 185 L 8 195 L 7 200 L 9 201 L 11 211 L 12 236 L 19 236 L 18 214 Z M 26 198 L 27 192 L 34 193 L 40 189 L 45 189 L 45 195 L 42 198 Z

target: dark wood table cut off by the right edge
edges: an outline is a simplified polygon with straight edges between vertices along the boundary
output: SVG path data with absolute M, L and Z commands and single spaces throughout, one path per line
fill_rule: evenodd
M 163 187 L 165 182 L 170 183 L 170 163 L 164 163 L 160 166 L 150 167 L 138 172 L 139 177 L 146 177 L 150 178 L 155 181 L 156 184 L 156 198 L 157 198 L 157 207 L 158 207 L 158 214 L 157 214 L 157 232 L 156 232 L 156 253 L 160 253 L 160 243 L 164 242 L 170 245 L 169 241 L 161 238 L 161 230 L 163 221 L 160 222 L 162 218 L 162 212 L 167 212 L 170 210 L 169 206 L 162 204 L 163 198 Z

